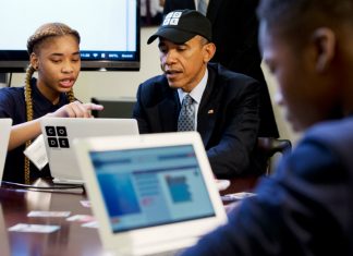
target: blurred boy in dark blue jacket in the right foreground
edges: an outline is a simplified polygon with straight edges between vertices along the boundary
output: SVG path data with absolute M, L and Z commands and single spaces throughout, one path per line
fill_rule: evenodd
M 278 103 L 307 130 L 256 196 L 183 256 L 353 255 L 353 0 L 261 0 Z

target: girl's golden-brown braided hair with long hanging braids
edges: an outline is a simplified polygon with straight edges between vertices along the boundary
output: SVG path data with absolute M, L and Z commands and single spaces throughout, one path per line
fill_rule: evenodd
M 38 52 L 40 50 L 40 45 L 48 38 L 57 37 L 57 36 L 65 36 L 65 35 L 72 35 L 76 38 L 77 42 L 80 44 L 81 37 L 78 32 L 72 29 L 65 24 L 62 23 L 48 23 L 42 26 L 40 26 L 34 35 L 32 35 L 27 40 L 27 52 L 31 56 L 33 52 Z M 24 96 L 25 96 L 25 102 L 26 102 L 26 119 L 27 122 L 33 120 L 33 99 L 32 99 L 32 88 L 31 88 L 31 80 L 35 71 L 37 70 L 37 66 L 33 66 L 32 64 L 28 65 L 26 70 L 26 76 L 25 76 L 25 87 L 24 87 Z M 74 93 L 72 88 L 70 92 L 66 93 L 66 97 L 70 102 L 73 102 L 75 100 Z M 26 142 L 26 148 L 32 144 L 32 141 Z M 24 178 L 25 183 L 28 184 L 31 181 L 31 174 L 29 174 L 29 159 L 25 157 L 25 163 L 24 163 Z

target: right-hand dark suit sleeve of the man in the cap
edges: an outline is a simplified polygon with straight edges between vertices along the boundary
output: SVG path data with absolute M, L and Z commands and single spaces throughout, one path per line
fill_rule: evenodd
M 238 83 L 238 82 L 233 82 Z M 219 143 L 207 149 L 207 156 L 216 176 L 243 174 L 251 164 L 251 154 L 257 142 L 259 127 L 259 85 L 242 82 L 224 97 L 224 125 Z M 242 86 L 242 87 L 241 87 Z M 239 88 L 241 87 L 241 88 Z M 221 99 L 222 100 L 222 99 Z

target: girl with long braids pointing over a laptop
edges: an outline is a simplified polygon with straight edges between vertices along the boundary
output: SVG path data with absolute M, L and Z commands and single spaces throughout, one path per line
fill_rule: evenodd
M 21 183 L 50 176 L 48 166 L 39 171 L 23 154 L 40 134 L 42 117 L 90 118 L 90 110 L 102 109 L 74 97 L 72 87 L 81 69 L 76 31 L 61 23 L 45 24 L 28 38 L 27 50 L 25 86 L 0 89 L 0 118 L 13 120 L 3 180 Z M 36 71 L 38 78 L 33 77 Z

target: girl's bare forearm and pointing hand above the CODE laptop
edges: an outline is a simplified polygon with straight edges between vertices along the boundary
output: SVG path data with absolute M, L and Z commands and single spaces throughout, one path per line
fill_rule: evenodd
M 68 103 L 56 112 L 48 113 L 39 119 L 13 125 L 10 133 L 9 150 L 12 150 L 25 142 L 37 137 L 40 131 L 40 119 L 45 117 L 53 118 L 90 118 L 90 110 L 102 110 L 104 107 L 95 103 L 81 103 L 80 101 L 74 101 Z

